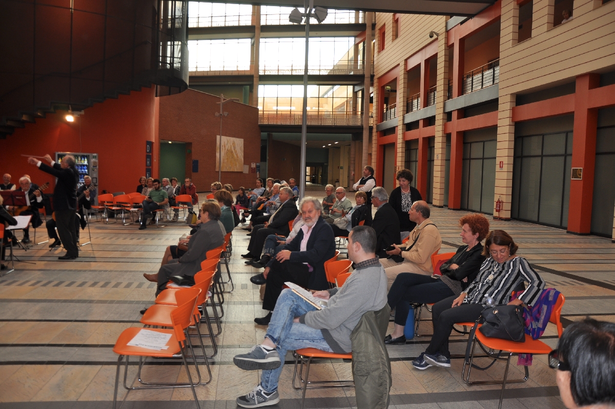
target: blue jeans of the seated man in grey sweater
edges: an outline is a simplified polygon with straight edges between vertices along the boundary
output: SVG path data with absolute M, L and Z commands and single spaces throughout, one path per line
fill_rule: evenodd
M 315 307 L 288 288 L 282 290 L 276 302 L 276 308 L 271 315 L 271 322 L 265 335 L 277 346 L 277 353 L 282 363 L 279 368 L 263 371 L 261 387 L 266 392 L 277 391 L 277 383 L 284 368 L 284 360 L 288 350 L 301 348 L 317 348 L 325 352 L 333 352 L 322 336 L 320 330 L 315 330 L 305 324 L 293 322 L 295 317 L 315 311 Z

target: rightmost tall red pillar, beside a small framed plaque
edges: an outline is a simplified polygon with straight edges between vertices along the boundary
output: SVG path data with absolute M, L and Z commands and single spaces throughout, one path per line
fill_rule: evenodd
M 589 90 L 600 86 L 600 75 L 577 76 L 574 94 L 573 168 L 581 180 L 570 181 L 568 232 L 589 234 L 592 224 L 593 172 L 596 162 L 598 109 L 589 108 Z

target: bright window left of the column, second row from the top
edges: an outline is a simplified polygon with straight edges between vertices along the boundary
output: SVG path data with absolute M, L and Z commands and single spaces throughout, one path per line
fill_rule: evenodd
M 190 71 L 250 70 L 251 39 L 188 41 Z

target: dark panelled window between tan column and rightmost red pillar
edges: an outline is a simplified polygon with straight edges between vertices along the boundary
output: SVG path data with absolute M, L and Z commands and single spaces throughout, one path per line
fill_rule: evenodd
M 568 226 L 572 152 L 572 132 L 515 139 L 512 217 Z

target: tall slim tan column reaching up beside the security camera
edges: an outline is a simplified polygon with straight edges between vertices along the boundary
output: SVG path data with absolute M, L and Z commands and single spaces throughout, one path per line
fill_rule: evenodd
M 444 203 L 444 179 L 446 166 L 446 135 L 444 123 L 444 101 L 448 92 L 448 46 L 445 19 L 443 28 L 438 31 L 438 64 L 435 90 L 435 147 L 434 147 L 434 192 L 432 195 L 434 206 L 443 207 Z

